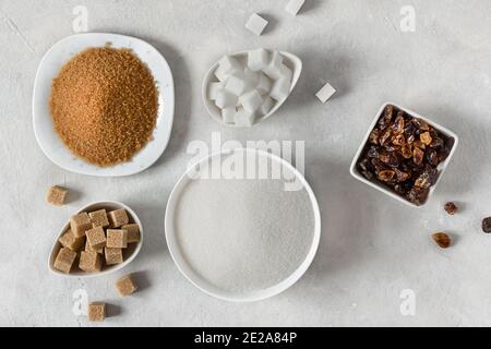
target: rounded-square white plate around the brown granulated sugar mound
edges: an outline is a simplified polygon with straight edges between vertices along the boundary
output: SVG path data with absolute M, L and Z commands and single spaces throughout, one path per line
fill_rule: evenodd
M 89 47 L 110 43 L 115 48 L 129 48 L 145 63 L 158 86 L 158 117 L 153 140 L 130 161 L 112 167 L 97 167 L 76 158 L 58 137 L 49 112 L 51 82 L 61 67 L 74 55 Z M 129 176 L 152 166 L 169 142 L 173 120 L 173 80 L 165 58 L 149 44 L 124 35 L 86 33 L 69 36 L 55 44 L 43 58 L 36 74 L 33 95 L 33 122 L 37 142 L 46 156 L 65 170 L 91 176 Z

